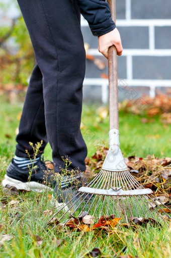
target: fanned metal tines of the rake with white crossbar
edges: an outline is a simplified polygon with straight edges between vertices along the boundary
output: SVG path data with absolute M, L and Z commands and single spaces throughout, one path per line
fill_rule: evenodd
M 141 186 L 129 171 L 102 169 L 87 187 L 81 187 L 78 191 L 57 211 L 55 215 L 60 216 L 58 221 L 66 221 L 68 215 L 79 217 L 85 211 L 96 219 L 114 214 L 117 218 L 121 217 L 123 223 L 129 223 L 135 217 L 143 217 L 159 218 L 168 225 L 165 217 L 171 219 L 164 210 L 165 217 L 157 211 L 158 208 L 161 210 L 160 204 L 167 207 L 152 195 L 150 189 Z

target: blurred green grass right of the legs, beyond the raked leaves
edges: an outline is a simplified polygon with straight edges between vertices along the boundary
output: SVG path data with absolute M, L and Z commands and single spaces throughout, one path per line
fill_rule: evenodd
M 88 145 L 88 155 L 96 150 L 96 142 L 108 146 L 109 117 L 101 120 L 97 106 L 83 106 L 82 122 L 85 128 L 82 134 Z M 119 114 L 120 147 L 125 157 L 136 154 L 146 157 L 170 157 L 171 125 L 163 125 L 160 118 L 153 118 L 152 123 L 141 123 L 142 117 L 133 114 Z M 90 133 L 90 135 L 89 135 Z

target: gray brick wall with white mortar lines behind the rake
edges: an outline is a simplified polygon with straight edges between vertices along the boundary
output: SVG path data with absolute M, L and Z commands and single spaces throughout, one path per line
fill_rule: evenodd
M 116 17 L 124 47 L 118 58 L 119 99 L 171 93 L 171 1 L 116 0 Z M 105 64 L 101 70 L 87 60 L 83 97 L 107 102 L 108 80 L 101 78 L 108 73 L 107 61 L 83 18 L 81 29 L 84 42 L 90 44 L 88 54 Z

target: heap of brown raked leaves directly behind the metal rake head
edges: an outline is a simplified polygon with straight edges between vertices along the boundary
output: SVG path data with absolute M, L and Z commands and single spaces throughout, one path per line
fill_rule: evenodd
M 85 160 L 85 175 L 93 179 L 101 170 L 108 148 L 98 149 L 92 158 Z M 152 189 L 156 195 L 171 198 L 171 158 L 158 159 L 148 155 L 146 158 L 130 156 L 125 158 L 128 170 L 145 188 Z

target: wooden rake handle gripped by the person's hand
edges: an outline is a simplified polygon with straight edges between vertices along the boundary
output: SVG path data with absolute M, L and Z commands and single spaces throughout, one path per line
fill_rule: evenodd
M 115 0 L 108 0 L 112 19 L 116 23 Z M 117 50 L 113 45 L 108 50 L 108 72 L 109 72 L 109 125 L 111 129 L 119 130 L 118 110 L 118 73 L 117 73 Z

